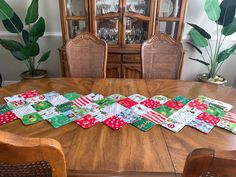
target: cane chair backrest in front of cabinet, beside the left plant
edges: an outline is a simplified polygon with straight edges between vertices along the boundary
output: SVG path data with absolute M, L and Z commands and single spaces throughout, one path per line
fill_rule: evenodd
M 106 78 L 107 44 L 91 33 L 80 33 L 66 43 L 70 76 Z

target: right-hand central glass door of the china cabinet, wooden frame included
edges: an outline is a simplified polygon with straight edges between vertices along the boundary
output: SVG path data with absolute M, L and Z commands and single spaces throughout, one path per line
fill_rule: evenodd
M 142 44 L 152 32 L 152 17 L 155 1 L 126 0 L 124 13 L 123 45 Z

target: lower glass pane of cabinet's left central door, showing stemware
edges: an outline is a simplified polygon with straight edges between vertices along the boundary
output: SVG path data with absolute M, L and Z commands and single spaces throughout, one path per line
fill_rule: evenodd
M 97 20 L 97 37 L 108 44 L 118 44 L 118 17 Z

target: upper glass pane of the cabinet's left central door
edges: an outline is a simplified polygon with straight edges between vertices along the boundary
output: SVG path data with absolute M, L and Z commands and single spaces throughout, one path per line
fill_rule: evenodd
M 119 0 L 96 0 L 96 15 L 117 13 L 119 10 Z

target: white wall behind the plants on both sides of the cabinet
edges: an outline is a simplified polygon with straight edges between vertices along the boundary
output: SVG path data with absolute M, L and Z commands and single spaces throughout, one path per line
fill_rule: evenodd
M 15 9 L 22 19 L 25 17 L 26 8 L 31 0 L 7 0 L 9 4 Z M 216 28 L 213 22 L 210 22 L 203 10 L 203 4 L 205 1 L 189 0 L 188 10 L 186 14 L 186 22 L 196 23 L 204 27 L 208 32 L 212 34 L 211 43 L 214 45 L 216 39 Z M 59 61 L 59 54 L 57 48 L 62 45 L 61 39 L 61 24 L 60 24 L 60 13 L 58 0 L 40 0 L 40 15 L 46 19 L 46 34 L 40 40 L 42 51 L 51 49 L 50 59 L 42 66 L 47 69 L 50 76 L 61 76 L 61 68 Z M 205 72 L 203 65 L 191 61 L 188 59 L 189 56 L 197 57 L 197 52 L 186 45 L 188 40 L 188 32 L 190 27 L 185 26 L 183 34 L 183 43 L 185 48 L 185 59 L 183 65 L 182 79 L 183 80 L 195 80 L 195 76 L 198 73 Z M 4 32 L 2 24 L 0 24 L 0 37 L 9 38 L 7 33 Z M 14 38 L 14 36 L 11 36 Z M 236 35 L 230 36 L 225 43 L 225 48 L 230 47 L 236 43 Z M 11 69 L 9 69 L 11 68 Z M 228 85 L 233 86 L 236 79 L 236 55 L 225 62 L 220 74 L 225 76 L 228 80 Z M 3 75 L 4 80 L 19 80 L 19 73 L 24 71 L 26 68 L 23 63 L 15 60 L 9 52 L 0 47 L 0 73 Z

